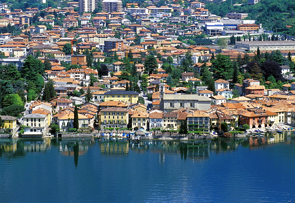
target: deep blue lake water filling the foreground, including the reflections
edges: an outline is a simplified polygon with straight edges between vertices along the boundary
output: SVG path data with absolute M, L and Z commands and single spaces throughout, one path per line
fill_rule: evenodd
M 0 202 L 294 202 L 293 135 L 0 139 Z

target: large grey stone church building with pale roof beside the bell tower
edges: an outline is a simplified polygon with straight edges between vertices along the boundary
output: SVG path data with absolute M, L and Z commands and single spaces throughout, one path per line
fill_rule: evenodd
M 193 110 L 208 110 L 211 99 L 199 95 L 180 95 L 180 94 L 164 94 L 160 101 L 161 111 L 173 111 L 179 108 L 189 108 Z

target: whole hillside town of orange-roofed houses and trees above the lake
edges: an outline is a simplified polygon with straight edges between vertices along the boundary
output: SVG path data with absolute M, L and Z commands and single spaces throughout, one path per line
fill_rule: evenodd
M 293 26 L 274 33 L 209 1 L 130 2 L 0 3 L 1 138 L 295 127 Z

